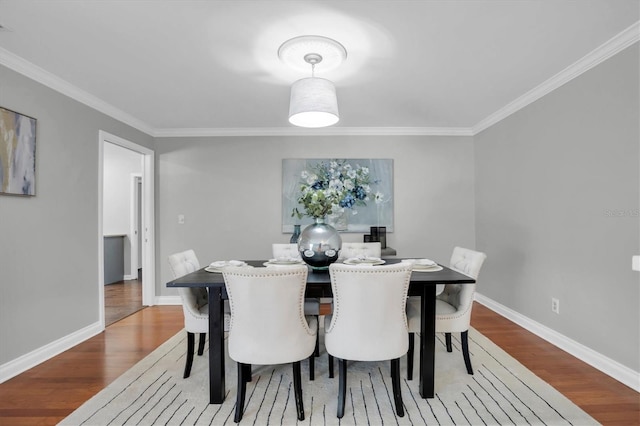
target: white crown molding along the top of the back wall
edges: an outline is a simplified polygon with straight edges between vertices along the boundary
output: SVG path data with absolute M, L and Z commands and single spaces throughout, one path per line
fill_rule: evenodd
M 221 129 L 157 129 L 156 138 L 218 136 L 473 136 L 463 127 L 256 127 Z

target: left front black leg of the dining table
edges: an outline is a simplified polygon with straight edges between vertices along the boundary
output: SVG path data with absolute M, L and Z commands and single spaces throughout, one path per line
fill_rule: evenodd
M 224 301 L 220 287 L 209 287 L 209 403 L 224 401 Z

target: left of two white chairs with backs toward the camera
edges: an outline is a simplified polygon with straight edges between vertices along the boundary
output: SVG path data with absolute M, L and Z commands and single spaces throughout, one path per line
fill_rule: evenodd
M 234 421 L 244 412 L 251 365 L 293 363 L 298 419 L 304 420 L 300 361 L 313 358 L 317 317 L 304 315 L 307 266 L 234 268 L 223 272 L 231 323 L 229 356 L 238 363 Z

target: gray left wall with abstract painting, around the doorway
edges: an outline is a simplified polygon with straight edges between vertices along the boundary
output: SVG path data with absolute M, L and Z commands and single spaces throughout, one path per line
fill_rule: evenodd
M 0 365 L 98 318 L 98 131 L 151 137 L 0 66 L 0 105 L 35 117 L 36 196 L 0 196 Z

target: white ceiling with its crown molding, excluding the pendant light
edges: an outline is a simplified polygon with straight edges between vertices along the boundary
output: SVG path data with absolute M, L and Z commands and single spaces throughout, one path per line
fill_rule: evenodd
M 295 134 L 310 73 L 277 50 L 323 35 L 348 51 L 316 72 L 341 120 L 309 132 L 474 134 L 637 42 L 639 19 L 638 0 L 0 0 L 0 64 L 155 136 Z

